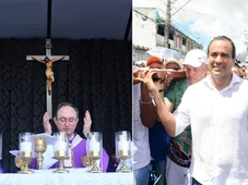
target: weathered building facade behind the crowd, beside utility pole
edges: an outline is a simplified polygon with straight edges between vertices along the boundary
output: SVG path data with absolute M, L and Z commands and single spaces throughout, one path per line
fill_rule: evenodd
M 132 11 L 133 62 L 146 60 L 145 53 L 156 46 L 166 46 L 165 18 L 160 16 L 156 8 L 133 8 Z M 168 29 L 168 48 L 186 55 L 191 49 L 202 49 L 202 45 L 170 25 Z

